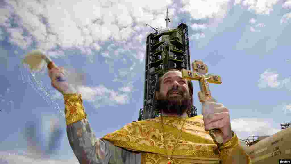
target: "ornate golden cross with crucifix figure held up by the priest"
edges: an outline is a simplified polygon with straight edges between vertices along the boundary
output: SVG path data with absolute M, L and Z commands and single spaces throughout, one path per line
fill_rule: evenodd
M 182 69 L 182 78 L 199 81 L 200 91 L 198 92 L 198 99 L 202 105 L 204 102 L 216 102 L 216 100 L 211 96 L 209 83 L 221 84 L 221 77 L 218 75 L 207 74 L 208 67 L 201 60 L 195 60 L 192 62 L 192 69 L 193 71 Z M 202 111 L 203 115 L 205 113 L 209 114 L 211 111 Z M 209 130 L 209 135 L 217 144 L 223 142 L 221 130 Z

